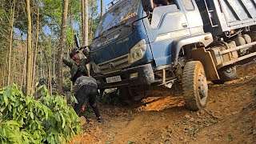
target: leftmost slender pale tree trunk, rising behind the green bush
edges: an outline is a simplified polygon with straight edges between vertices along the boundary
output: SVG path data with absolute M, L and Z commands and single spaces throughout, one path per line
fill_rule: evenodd
M 11 50 L 12 50 L 12 41 L 13 41 L 13 31 L 14 31 L 14 14 L 15 14 L 15 2 L 13 5 L 13 8 L 11 10 L 11 20 L 10 20 L 10 46 L 9 46 L 9 59 L 8 59 L 8 79 L 7 79 L 7 85 L 10 85 L 10 67 L 11 67 Z

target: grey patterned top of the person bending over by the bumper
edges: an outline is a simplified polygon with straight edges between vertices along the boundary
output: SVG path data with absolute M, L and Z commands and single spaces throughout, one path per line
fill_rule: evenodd
M 97 87 L 97 82 L 92 77 L 81 76 L 74 82 L 72 94 L 76 95 L 78 93 L 78 90 L 80 89 L 80 87 L 84 86 L 84 85 Z

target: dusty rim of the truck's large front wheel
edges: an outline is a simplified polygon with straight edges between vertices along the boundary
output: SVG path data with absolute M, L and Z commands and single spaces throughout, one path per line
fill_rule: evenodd
M 206 76 L 202 73 L 198 75 L 198 96 L 201 104 L 206 104 L 206 99 L 208 96 L 208 85 L 206 81 Z

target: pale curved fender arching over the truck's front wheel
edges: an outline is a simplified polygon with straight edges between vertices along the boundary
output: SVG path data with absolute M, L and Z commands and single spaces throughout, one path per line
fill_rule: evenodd
M 179 51 L 182 49 L 182 46 L 194 44 L 201 42 L 205 47 L 209 46 L 210 43 L 214 42 L 214 38 L 210 33 L 204 33 L 199 35 L 194 35 L 188 38 L 178 39 L 177 41 L 173 42 L 174 47 L 171 49 L 171 62 L 174 64 L 178 62 L 178 54 Z

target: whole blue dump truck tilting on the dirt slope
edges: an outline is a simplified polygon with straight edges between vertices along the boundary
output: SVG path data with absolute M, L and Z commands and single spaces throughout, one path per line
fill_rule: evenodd
M 256 4 L 166 1 L 110 3 L 90 44 L 93 76 L 101 89 L 182 83 L 186 108 L 202 110 L 207 81 L 234 79 L 236 63 L 256 55 Z

